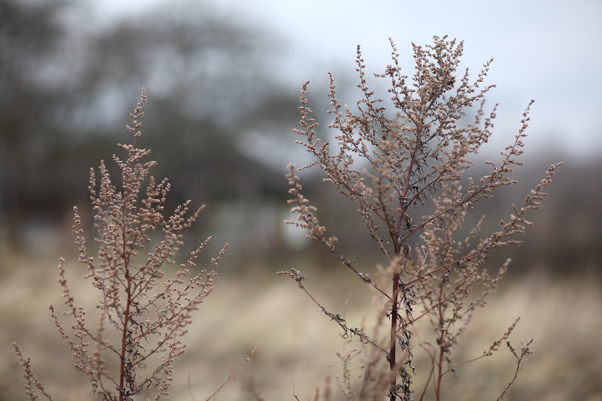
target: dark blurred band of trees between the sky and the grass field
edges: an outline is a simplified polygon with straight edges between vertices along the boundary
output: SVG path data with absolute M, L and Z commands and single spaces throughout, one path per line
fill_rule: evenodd
M 120 155 L 117 142 L 131 141 L 125 124 L 146 87 L 138 144 L 158 161 L 152 174 L 172 183 L 168 207 L 188 199 L 208 205 L 191 247 L 210 234 L 216 247 L 230 242 L 225 262 L 232 266 L 327 258 L 319 246 L 289 239 L 283 223 L 290 218 L 285 166 L 303 163 L 292 132 L 299 121 L 295 88 L 303 82 L 285 85 L 286 73 L 276 70 L 287 46 L 278 32 L 202 7 L 182 13 L 165 6 L 91 23 L 86 4 L 0 0 L 1 249 L 42 254 L 60 246 L 75 253 L 72 207 L 89 211 L 89 169 L 100 159 L 114 167 L 111 155 Z M 326 99 L 321 104 L 326 111 Z M 548 164 L 565 159 L 527 152 L 520 184 L 477 210 L 491 215 L 485 232 L 507 218 L 510 204 L 520 206 Z M 600 269 L 602 164 L 564 161 L 526 243 L 500 259 L 510 256 L 520 269 Z M 318 176 L 304 186 L 344 248 L 359 260 L 370 256 L 353 207 Z

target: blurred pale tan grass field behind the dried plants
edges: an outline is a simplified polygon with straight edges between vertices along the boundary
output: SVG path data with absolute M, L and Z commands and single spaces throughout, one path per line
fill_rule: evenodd
M 24 354 L 32 357 L 34 373 L 55 399 L 96 399 L 85 375 L 73 368 L 71 352 L 48 313 L 48 304 L 61 304 L 55 265 L 51 259 L 26 257 L 5 258 L 2 262 L 2 401 L 28 399 L 12 341 L 17 341 Z M 293 267 L 307 275 L 306 288 L 327 310 L 340 313 L 352 326 L 360 326 L 368 316 L 367 332 L 371 331 L 372 294 L 360 280 L 354 280 L 338 266 L 327 266 L 329 272 L 326 268 L 304 268 L 303 263 Z M 73 258 L 68 260 L 67 272 L 76 301 L 87 308 L 93 321 L 93 303 L 98 294 L 81 279 L 84 269 Z M 521 337 L 533 338 L 535 353 L 504 400 L 602 400 L 600 283 L 600 277 L 569 274 L 550 277 L 533 273 L 506 278 L 499 292 L 489 298 L 487 307 L 477 311 L 461 346 L 452 354 L 454 361 L 481 355 L 521 316 L 510 341 L 519 349 Z M 69 322 L 65 319 L 64 323 L 68 326 Z M 428 330 L 421 336 L 428 335 Z M 244 277 L 218 275 L 214 292 L 195 314 L 184 341 L 188 347 L 176 361 L 170 400 L 205 400 L 253 347 L 258 352 L 238 370 L 236 378 L 220 391 L 216 400 L 255 399 L 253 387 L 264 400 L 292 400 L 294 395 L 300 400 L 313 399 L 315 388 L 323 388 L 326 376 L 331 377 L 332 400 L 343 400 L 333 373 L 341 373 L 336 354 L 343 346 L 349 349 L 360 345 L 355 340 L 343 340 L 340 328 L 293 280 L 265 271 Z M 414 390 L 419 393 L 429 365 L 424 352 L 416 347 Z M 361 358 L 360 355 L 356 363 L 361 363 Z M 446 376 L 444 399 L 495 400 L 512 379 L 515 367 L 514 357 L 503 345 L 494 356 L 456 369 L 456 377 Z M 359 374 L 359 370 L 353 373 Z

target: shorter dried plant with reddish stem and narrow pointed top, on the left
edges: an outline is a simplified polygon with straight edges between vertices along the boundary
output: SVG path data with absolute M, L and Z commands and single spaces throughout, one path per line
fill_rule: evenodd
M 76 369 L 88 376 L 93 393 L 105 401 L 134 400 L 134 396 L 148 388 L 155 388 L 155 400 L 169 394 L 173 362 L 184 353 L 186 346 L 182 336 L 191 323 L 193 311 L 213 289 L 215 268 L 228 246 L 223 246 L 217 257 L 211 259 L 213 267 L 210 271 L 202 270 L 191 277 L 191 270 L 196 266 L 200 251 L 211 239 L 209 237 L 191 253 L 187 262 L 180 265 L 181 269 L 172 278 L 163 281 L 162 266 L 175 263 L 176 251 L 184 243 L 182 231 L 193 224 L 204 206 L 189 213 L 190 201 L 187 201 L 168 219 L 164 218 L 163 207 L 170 185 L 167 180 L 157 184 L 149 176 L 149 170 L 156 163 L 141 162 L 151 152 L 136 145 L 141 135 L 138 120 L 144 115 L 144 102 L 146 93 L 143 89 L 140 102 L 131 114 L 133 126 L 127 127 L 134 136 L 133 144 L 119 144 L 127 158 L 124 161 L 113 156 L 122 172 L 122 189 L 113 185 L 103 161 L 99 167 L 99 186 L 94 169 L 90 172 L 90 198 L 98 230 L 96 258 L 90 256 L 81 219 L 75 209 L 73 233 L 79 246 L 79 262 L 87 266 L 85 278 L 101 293 L 95 305 L 100 311 L 99 324 L 92 328 L 85 309 L 76 305 L 67 284 L 63 259 L 58 266 L 59 282 L 67 305 L 63 314 L 74 322 L 72 332 L 64 327 L 54 306 L 50 305 L 57 330 L 73 351 Z M 139 200 L 146 180 L 146 193 Z M 151 243 L 151 236 L 158 228 L 162 231 L 162 234 L 158 233 L 163 237 L 161 242 L 146 254 L 141 253 Z M 14 347 L 25 370 L 26 394 L 35 400 L 37 390 L 52 400 L 33 374 L 29 358 L 23 357 L 17 344 Z

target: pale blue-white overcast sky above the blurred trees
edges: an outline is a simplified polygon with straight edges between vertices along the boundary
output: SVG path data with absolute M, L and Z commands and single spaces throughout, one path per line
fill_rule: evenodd
M 134 12 L 141 4 L 161 2 L 97 1 L 98 12 L 107 19 Z M 411 42 L 426 44 L 433 35 L 445 34 L 464 40 L 462 64 L 474 74 L 494 58 L 486 82 L 497 84 L 488 102 L 500 102 L 496 127 L 500 143 L 515 135 L 521 112 L 535 99 L 527 146 L 599 157 L 602 1 L 170 0 L 170 4 L 181 13 L 198 6 L 272 31 L 288 43 L 287 51 L 278 55 L 281 64 L 275 66 L 275 75 L 293 87 L 307 80 L 324 85 L 328 71 L 354 74 L 358 44 L 367 71 L 382 72 L 390 63 L 392 37 L 411 75 Z

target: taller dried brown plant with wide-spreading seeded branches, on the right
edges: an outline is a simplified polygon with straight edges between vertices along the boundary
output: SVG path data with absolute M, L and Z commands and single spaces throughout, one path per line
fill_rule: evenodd
M 298 214 L 297 220 L 290 223 L 305 228 L 306 236 L 326 245 L 344 268 L 376 290 L 383 305 L 380 313 L 386 313 L 388 319 L 388 334 L 384 340 L 374 335 L 370 337 L 364 328 L 352 327 L 340 314 L 327 311 L 305 289 L 302 283 L 305 276 L 296 269 L 279 274 L 292 277 L 323 313 L 340 325 L 344 337 L 358 337 L 359 341 L 379 351 L 377 357 L 380 360 L 386 360 L 384 370 L 367 369 L 366 376 L 381 377 L 364 378 L 364 385 L 358 391 L 361 395 L 356 395 L 356 399 L 379 399 L 383 393 L 374 394 L 374 391 L 386 391 L 390 400 L 414 400 L 412 353 L 416 352 L 416 345 L 420 345 L 432 361 L 420 399 L 432 388 L 435 399 L 439 400 L 442 398 L 442 378 L 459 366 L 452 361 L 452 347 L 458 344 L 474 310 L 483 307 L 486 296 L 495 292 L 510 261 L 507 260 L 493 276 L 488 274 L 483 263 L 488 254 L 498 248 L 520 245 L 516 236 L 523 234 L 526 226 L 531 224 L 526 214 L 539 209 L 546 195 L 542 189 L 550 184 L 554 170 L 560 164 L 548 168 L 544 179 L 527 194 L 521 206 L 512 206 L 512 215 L 508 221 L 500 221 L 498 231 L 480 236 L 483 216 L 467 236 L 461 237 L 462 224 L 477 202 L 492 198 L 498 187 L 516 183 L 510 173 L 522 165 L 518 156 L 523 153 L 523 138 L 533 101 L 523 114 L 514 143 L 501 152 L 501 160 L 486 162 L 491 173 L 477 180 L 473 177 L 463 180 L 473 165 L 469 156 L 478 153 L 492 135 L 497 105 L 488 115 L 483 108 L 485 94 L 494 87 L 483 84 L 492 60 L 471 82 L 468 69 L 462 76 L 456 74 L 463 43 L 435 36 L 433 44 L 425 47 L 412 44 L 415 73 L 409 79 L 399 66 L 399 54 L 393 41 L 391 46 L 393 64 L 375 76 L 391 82 L 388 93 L 396 115 L 389 115 L 384 100 L 368 88 L 358 46 L 359 84 L 356 86 L 362 97 L 356 102 L 355 110 L 341 105 L 330 74 L 328 96 L 332 109 L 328 112 L 334 120 L 328 127 L 338 132 L 335 136 L 337 148 L 315 135 L 317 123 L 307 106 L 309 82 L 306 82 L 300 97 L 302 128 L 296 130 L 301 139 L 296 142 L 311 153 L 314 161 L 298 169 L 290 165 L 287 176 L 293 195 L 289 203 L 293 205 L 292 212 Z M 474 106 L 474 120 L 462 123 L 468 109 Z M 377 284 L 370 273 L 344 256 L 337 245 L 337 237 L 326 236 L 326 228 L 320 225 L 316 208 L 302 195 L 297 175 L 297 171 L 314 165 L 323 170 L 324 181 L 334 185 L 358 207 L 375 246 L 386 260 L 388 283 L 391 283 L 387 285 L 391 288 Z M 468 298 L 476 287 L 482 287 L 480 296 Z M 434 343 L 416 341 L 413 337 L 414 323 L 423 318 L 429 319 L 434 329 Z M 515 323 L 482 357 L 491 355 L 502 341 L 507 340 Z M 520 366 L 530 354 L 528 345 L 518 361 Z M 348 362 L 344 360 L 345 364 Z M 386 385 L 383 386 L 383 382 Z M 368 385 L 371 387 L 367 393 Z M 349 386 L 344 388 L 347 399 L 353 399 Z

